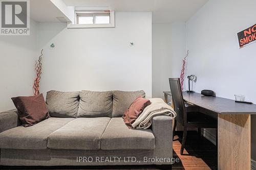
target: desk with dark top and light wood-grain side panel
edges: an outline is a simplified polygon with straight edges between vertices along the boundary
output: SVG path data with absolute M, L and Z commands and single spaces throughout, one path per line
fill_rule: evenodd
M 250 169 L 251 114 L 256 105 L 183 92 L 186 102 L 218 113 L 218 169 Z

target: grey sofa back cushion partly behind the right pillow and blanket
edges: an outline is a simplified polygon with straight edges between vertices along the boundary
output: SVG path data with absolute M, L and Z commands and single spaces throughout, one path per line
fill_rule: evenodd
M 113 117 L 122 117 L 125 110 L 127 110 L 133 101 L 141 96 L 145 98 L 145 92 L 140 91 L 113 91 Z

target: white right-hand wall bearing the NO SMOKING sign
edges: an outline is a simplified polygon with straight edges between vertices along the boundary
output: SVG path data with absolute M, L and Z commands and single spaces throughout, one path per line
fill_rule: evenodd
M 229 99 L 244 94 L 246 101 L 256 103 L 256 43 L 239 49 L 237 37 L 238 32 L 255 24 L 255 7 L 255 0 L 209 0 L 189 19 L 187 74 L 198 76 L 195 91 L 211 89 L 217 96 Z M 255 130 L 255 118 L 253 121 Z M 252 131 L 255 143 L 253 135 Z M 255 148 L 252 153 L 256 153 Z M 256 159 L 256 155 L 253 157 Z

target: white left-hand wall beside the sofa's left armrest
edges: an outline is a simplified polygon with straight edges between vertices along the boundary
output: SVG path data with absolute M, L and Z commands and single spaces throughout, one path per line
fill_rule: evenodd
M 33 95 L 36 23 L 30 20 L 29 36 L 0 36 L 0 112 L 15 108 L 11 98 Z

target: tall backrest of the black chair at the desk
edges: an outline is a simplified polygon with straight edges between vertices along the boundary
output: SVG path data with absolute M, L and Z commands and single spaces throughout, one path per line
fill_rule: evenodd
M 170 91 L 172 91 L 174 111 L 177 113 L 175 119 L 184 126 L 184 122 L 186 121 L 186 108 L 181 91 L 180 78 L 169 78 L 169 83 Z

